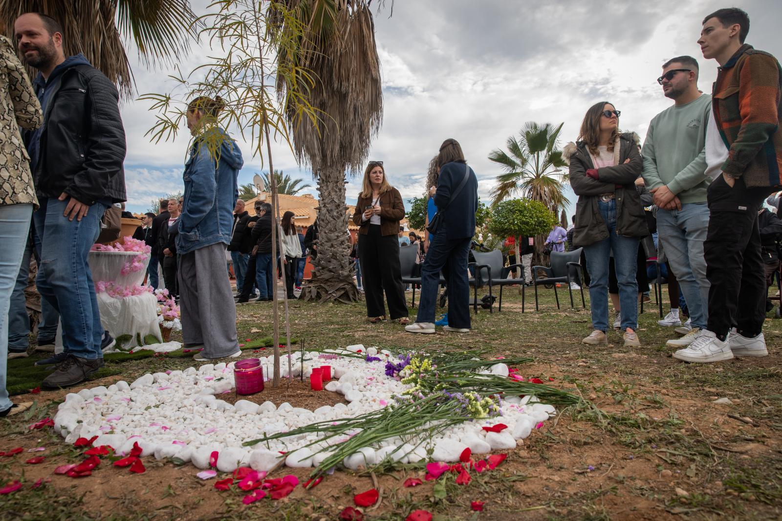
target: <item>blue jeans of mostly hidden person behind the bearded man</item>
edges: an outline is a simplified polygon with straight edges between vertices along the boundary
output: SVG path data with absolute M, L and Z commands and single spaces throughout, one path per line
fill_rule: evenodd
M 27 288 L 27 276 L 30 274 L 30 258 L 33 256 L 33 247 L 33 243 L 27 240 L 19 275 L 16 277 L 16 286 L 13 287 L 11 294 L 11 304 L 8 311 L 8 346 L 13 350 L 27 350 L 27 347 L 30 347 L 30 315 L 27 314 L 24 289 Z M 36 245 L 35 249 L 40 251 L 40 245 Z M 38 323 L 38 339 L 53 340 L 57 336 L 57 322 L 59 322 L 57 311 L 47 300 L 41 299 L 41 322 Z

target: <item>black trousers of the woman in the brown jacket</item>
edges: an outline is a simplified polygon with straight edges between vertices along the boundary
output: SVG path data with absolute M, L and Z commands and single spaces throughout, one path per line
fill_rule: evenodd
M 361 276 L 364 278 L 367 316 L 385 316 L 385 291 L 391 320 L 407 317 L 407 304 L 402 289 L 402 268 L 399 262 L 399 239 L 396 235 L 382 235 L 380 225 L 368 225 L 368 228 L 367 234 L 358 235 L 358 259 L 361 262 Z

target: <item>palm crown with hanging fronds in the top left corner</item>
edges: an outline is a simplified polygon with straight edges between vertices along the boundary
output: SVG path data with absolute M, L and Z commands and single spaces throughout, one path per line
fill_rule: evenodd
M 134 81 L 123 40 L 133 42 L 145 64 L 173 64 L 195 35 L 196 16 L 188 0 L 0 0 L 6 36 L 13 36 L 16 17 L 30 12 L 59 21 L 65 55 L 83 53 L 128 100 Z

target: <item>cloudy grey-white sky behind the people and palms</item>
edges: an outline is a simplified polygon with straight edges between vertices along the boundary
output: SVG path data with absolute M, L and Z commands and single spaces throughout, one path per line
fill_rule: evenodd
M 194 5 L 203 13 L 206 3 Z M 385 110 L 370 159 L 385 161 L 389 180 L 407 199 L 423 192 L 426 166 L 443 139 L 456 138 L 487 201 L 500 171 L 486 156 L 526 121 L 564 122 L 564 145 L 576 138 L 587 108 L 609 100 L 622 111 L 622 130 L 643 138 L 651 117 L 671 104 L 655 81 L 667 59 L 694 56 L 699 86 L 711 92 L 717 64 L 703 59 L 695 42 L 703 16 L 726 6 L 714 0 L 395 0 L 393 16 L 389 9 L 375 16 Z M 752 23 L 747 42 L 782 58 L 782 2 L 740 6 Z M 203 63 L 207 52 L 208 46 L 192 52 L 181 70 Z M 171 71 L 131 63 L 139 94 L 173 88 Z M 187 131 L 174 141 L 149 142 L 145 133 L 155 117 L 148 109 L 149 102 L 135 101 L 122 111 L 132 211 L 182 189 Z M 249 143 L 241 146 L 246 164 L 239 181 L 247 183 L 261 170 L 261 159 L 252 157 Z M 317 197 L 310 171 L 287 147 L 275 146 L 273 157 L 275 169 L 304 179 L 313 186 L 302 193 Z M 350 179 L 349 203 L 360 185 L 360 178 Z

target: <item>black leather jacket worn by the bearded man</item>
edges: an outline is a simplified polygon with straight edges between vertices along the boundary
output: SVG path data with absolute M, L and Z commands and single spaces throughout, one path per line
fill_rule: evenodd
M 36 91 L 41 81 L 35 82 Z M 125 131 L 114 84 L 86 63 L 70 66 L 50 88 L 33 171 L 39 197 L 63 192 L 84 204 L 127 199 Z M 25 145 L 30 141 L 25 132 Z

